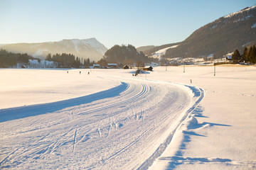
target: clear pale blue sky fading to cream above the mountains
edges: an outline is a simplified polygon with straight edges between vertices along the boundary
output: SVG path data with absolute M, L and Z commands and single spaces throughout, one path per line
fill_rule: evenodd
M 0 0 L 0 44 L 96 38 L 107 48 L 180 42 L 255 0 Z

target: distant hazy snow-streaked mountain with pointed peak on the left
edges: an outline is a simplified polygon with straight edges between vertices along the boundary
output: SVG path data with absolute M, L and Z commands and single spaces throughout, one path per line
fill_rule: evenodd
M 98 42 L 95 38 L 85 40 L 60 40 L 58 42 L 41 42 L 41 43 L 17 43 L 1 45 L 1 49 L 9 52 L 27 53 L 33 57 L 45 59 L 49 53 L 73 54 L 75 57 L 90 58 L 97 62 L 107 51 L 107 47 Z

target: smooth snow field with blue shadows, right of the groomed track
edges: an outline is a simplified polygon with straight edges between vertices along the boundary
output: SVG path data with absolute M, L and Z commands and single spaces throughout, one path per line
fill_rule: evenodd
M 203 87 L 206 96 L 181 123 L 150 169 L 255 169 L 255 67 L 169 67 L 176 82 Z M 161 72 L 163 79 L 164 68 Z

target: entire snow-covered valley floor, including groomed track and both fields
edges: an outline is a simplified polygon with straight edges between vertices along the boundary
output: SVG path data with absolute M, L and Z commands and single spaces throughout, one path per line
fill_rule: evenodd
M 0 69 L 1 169 L 255 169 L 255 67 L 148 73 Z

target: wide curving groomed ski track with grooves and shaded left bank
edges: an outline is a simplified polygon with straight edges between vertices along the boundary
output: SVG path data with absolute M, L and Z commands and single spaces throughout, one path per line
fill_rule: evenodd
M 147 169 L 204 94 L 142 77 L 101 79 L 119 85 L 1 109 L 0 169 Z

